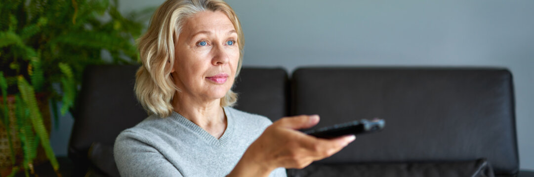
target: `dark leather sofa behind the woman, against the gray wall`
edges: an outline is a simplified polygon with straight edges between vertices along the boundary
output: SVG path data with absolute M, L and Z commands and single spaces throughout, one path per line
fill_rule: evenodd
M 95 65 L 83 78 L 69 141 L 72 176 L 119 176 L 113 142 L 147 116 L 138 65 Z M 502 68 L 243 68 L 237 109 L 318 114 L 316 127 L 380 117 L 339 153 L 288 176 L 534 176 L 519 170 L 512 73 Z

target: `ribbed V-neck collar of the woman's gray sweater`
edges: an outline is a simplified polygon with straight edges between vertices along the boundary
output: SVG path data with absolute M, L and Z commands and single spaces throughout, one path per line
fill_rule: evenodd
M 224 130 L 223 135 L 219 139 L 212 136 L 206 130 L 202 129 L 199 125 L 191 122 L 189 119 L 185 118 L 177 112 L 173 111 L 171 117 L 174 120 L 178 121 L 180 124 L 184 125 L 184 127 L 190 129 L 193 133 L 198 134 L 198 136 L 201 139 L 205 140 L 208 144 L 213 146 L 225 146 L 230 141 L 230 137 L 232 137 L 232 133 L 234 131 L 234 122 L 233 115 L 230 112 L 229 108 L 223 107 L 223 111 L 226 116 L 226 129 Z

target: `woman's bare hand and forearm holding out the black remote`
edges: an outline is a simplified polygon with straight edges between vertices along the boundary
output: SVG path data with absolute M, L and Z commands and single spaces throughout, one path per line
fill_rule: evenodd
M 318 115 L 285 117 L 274 122 L 248 147 L 229 176 L 268 176 L 278 167 L 304 168 L 332 156 L 356 138 L 321 139 L 298 131 L 318 122 Z

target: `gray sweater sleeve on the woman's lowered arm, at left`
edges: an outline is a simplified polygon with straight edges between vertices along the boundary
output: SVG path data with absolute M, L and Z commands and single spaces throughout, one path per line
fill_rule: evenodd
M 183 176 L 154 147 L 136 133 L 124 131 L 115 140 L 115 163 L 121 176 Z

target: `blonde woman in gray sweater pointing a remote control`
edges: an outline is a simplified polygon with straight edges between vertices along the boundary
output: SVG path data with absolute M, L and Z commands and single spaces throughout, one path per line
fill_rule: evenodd
M 286 176 L 347 146 L 299 129 L 317 115 L 269 119 L 231 108 L 244 38 L 221 0 L 168 0 L 139 39 L 135 92 L 150 114 L 117 137 L 122 176 Z

